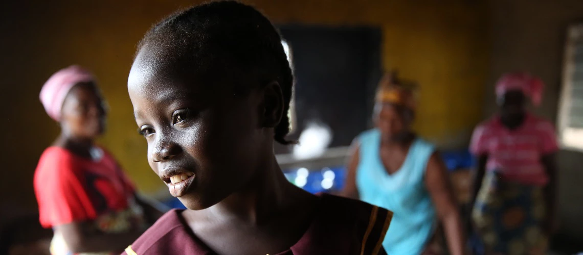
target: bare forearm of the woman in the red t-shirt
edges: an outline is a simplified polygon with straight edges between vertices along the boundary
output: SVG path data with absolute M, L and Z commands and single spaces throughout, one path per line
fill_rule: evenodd
M 106 234 L 96 231 L 93 222 L 72 222 L 55 226 L 55 232 L 60 232 L 67 247 L 73 253 L 115 252 L 123 251 L 131 245 L 145 229 L 135 229 L 123 234 Z

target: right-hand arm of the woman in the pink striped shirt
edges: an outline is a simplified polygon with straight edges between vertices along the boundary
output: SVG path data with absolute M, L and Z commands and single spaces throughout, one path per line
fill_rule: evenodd
M 557 192 L 557 171 L 554 159 L 554 153 L 544 155 L 541 159 L 547 176 L 549 177 L 549 183 L 545 186 L 545 203 L 546 203 L 546 222 L 543 226 L 544 231 L 548 235 L 552 235 L 554 232 L 554 219 L 556 214 L 556 192 Z

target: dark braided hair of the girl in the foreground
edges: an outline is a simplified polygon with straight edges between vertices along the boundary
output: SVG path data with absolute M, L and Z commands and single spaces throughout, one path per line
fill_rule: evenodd
M 277 81 L 284 109 L 273 138 L 288 145 L 294 143 L 285 138 L 294 81 L 281 41 L 271 21 L 255 8 L 236 1 L 216 1 L 181 10 L 154 24 L 139 42 L 137 52 L 147 45 L 163 52 L 164 59 L 184 63 L 181 68 L 205 81 L 219 79 L 234 84 L 236 94 Z

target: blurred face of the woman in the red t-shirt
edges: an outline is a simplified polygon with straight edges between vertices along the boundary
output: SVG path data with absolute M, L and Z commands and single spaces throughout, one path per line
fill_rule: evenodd
M 93 83 L 75 85 L 67 94 L 61 111 L 61 127 L 72 137 L 94 139 L 105 130 L 104 100 Z

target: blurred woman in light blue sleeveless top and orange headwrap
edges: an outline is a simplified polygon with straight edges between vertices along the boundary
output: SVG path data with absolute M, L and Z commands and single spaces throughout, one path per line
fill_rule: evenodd
M 431 143 L 410 130 L 415 102 L 394 75 L 377 92 L 376 127 L 353 143 L 345 196 L 394 212 L 382 243 L 387 254 L 439 254 L 430 246 L 441 221 L 451 254 L 464 253 L 459 212 L 445 166 Z

